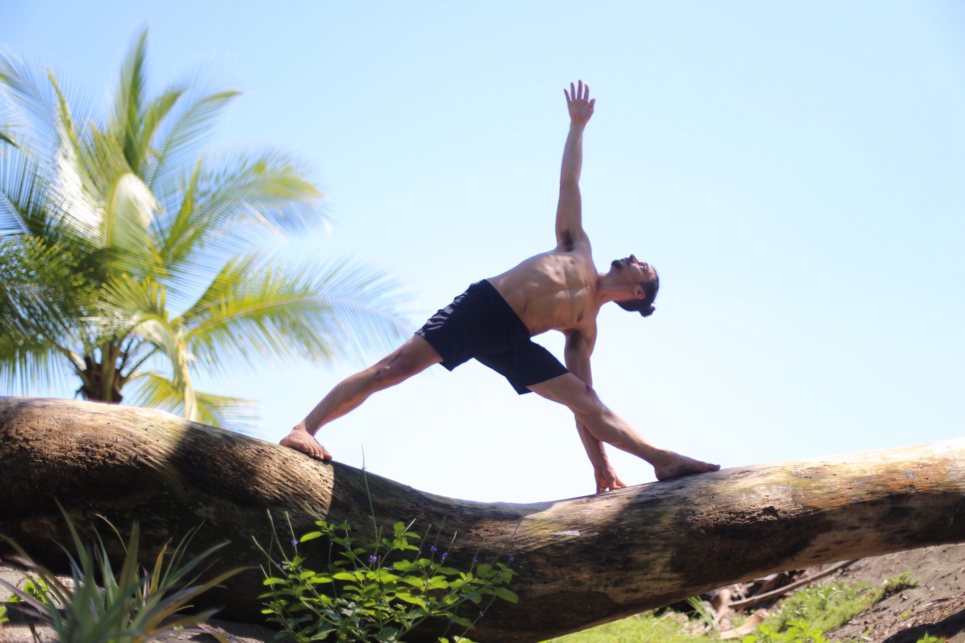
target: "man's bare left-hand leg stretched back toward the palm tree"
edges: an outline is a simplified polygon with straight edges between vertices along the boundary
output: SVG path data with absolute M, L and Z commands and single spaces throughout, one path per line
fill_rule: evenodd
M 314 438 L 320 427 L 362 404 L 376 390 L 393 387 L 438 362 L 442 362 L 442 358 L 432 345 L 421 336 L 412 335 L 379 362 L 346 377 L 332 388 L 280 444 L 307 453 L 316 460 L 331 460 L 332 454 Z

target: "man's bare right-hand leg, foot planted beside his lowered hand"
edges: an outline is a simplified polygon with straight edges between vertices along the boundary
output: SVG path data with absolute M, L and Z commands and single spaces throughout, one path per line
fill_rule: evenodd
M 613 444 L 653 465 L 657 480 L 720 469 L 720 465 L 694 460 L 644 440 L 632 426 L 600 402 L 592 387 L 572 373 L 554 377 L 529 388 L 546 399 L 569 408 L 597 440 Z

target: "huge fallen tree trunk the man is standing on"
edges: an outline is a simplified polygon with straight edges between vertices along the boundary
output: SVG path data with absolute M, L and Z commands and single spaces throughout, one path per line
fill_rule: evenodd
M 230 540 L 218 568 L 258 565 L 265 512 L 371 524 L 363 474 L 151 410 L 0 398 L 0 533 L 44 562 L 81 522 L 141 522 L 146 553 L 204 522 Z M 369 474 L 379 522 L 458 531 L 449 560 L 515 555 L 519 604 L 495 603 L 479 641 L 539 641 L 704 590 L 822 562 L 965 541 L 965 441 L 726 469 L 537 504 L 432 496 Z M 317 541 L 315 541 L 317 543 Z M 311 551 L 309 552 L 311 553 Z M 235 576 L 220 616 L 258 622 L 261 572 Z M 410 637 L 432 640 L 431 632 Z

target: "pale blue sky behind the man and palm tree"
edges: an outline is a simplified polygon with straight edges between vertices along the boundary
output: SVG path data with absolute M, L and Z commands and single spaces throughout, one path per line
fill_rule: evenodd
M 597 266 L 658 268 L 656 313 L 599 319 L 595 387 L 654 442 L 725 467 L 960 435 L 965 9 L 957 2 L 7 3 L 0 43 L 95 99 L 151 26 L 152 79 L 246 90 L 221 145 L 280 145 L 414 330 L 554 245 L 563 88 L 590 83 Z M 609 308 L 609 307 L 608 307 Z M 562 354 L 562 335 L 538 341 Z M 266 364 L 204 382 L 277 441 L 345 375 Z M 40 392 L 40 391 L 39 391 Z M 65 394 L 65 391 L 49 391 Z M 66 394 L 69 394 L 67 392 Z M 571 415 L 471 363 L 323 429 L 336 458 L 476 500 L 593 492 Z M 611 456 L 628 483 L 651 469 Z

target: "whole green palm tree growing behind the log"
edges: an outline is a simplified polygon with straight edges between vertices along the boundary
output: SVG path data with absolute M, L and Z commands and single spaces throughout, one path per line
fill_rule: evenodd
M 193 374 L 382 348 L 403 328 L 395 291 L 360 264 L 260 252 L 266 233 L 317 227 L 321 194 L 282 150 L 207 152 L 238 93 L 149 97 L 146 49 L 147 31 L 102 117 L 0 53 L 0 386 L 70 373 L 88 400 L 238 426 L 251 403 Z

